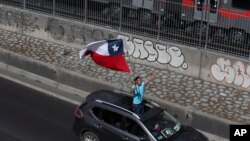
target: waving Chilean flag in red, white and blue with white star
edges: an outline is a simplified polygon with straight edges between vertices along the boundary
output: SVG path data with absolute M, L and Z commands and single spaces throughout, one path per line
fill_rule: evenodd
M 80 51 L 80 59 L 89 54 L 93 61 L 100 66 L 130 72 L 124 57 L 122 39 L 92 42 Z

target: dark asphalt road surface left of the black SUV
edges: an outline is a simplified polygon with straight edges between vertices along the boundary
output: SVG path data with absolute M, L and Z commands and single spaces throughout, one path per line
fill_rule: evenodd
M 0 77 L 0 140 L 77 141 L 75 107 Z

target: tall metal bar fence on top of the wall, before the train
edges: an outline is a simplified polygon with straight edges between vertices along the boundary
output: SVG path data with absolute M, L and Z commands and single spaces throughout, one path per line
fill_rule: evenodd
M 249 58 L 250 2 L 243 0 L 0 0 L 0 3 Z

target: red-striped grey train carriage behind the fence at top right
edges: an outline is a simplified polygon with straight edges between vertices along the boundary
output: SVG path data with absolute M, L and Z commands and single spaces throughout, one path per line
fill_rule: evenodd
M 181 20 L 193 31 L 207 30 L 246 44 L 250 33 L 250 0 L 182 0 Z M 190 24 L 191 23 L 191 24 Z

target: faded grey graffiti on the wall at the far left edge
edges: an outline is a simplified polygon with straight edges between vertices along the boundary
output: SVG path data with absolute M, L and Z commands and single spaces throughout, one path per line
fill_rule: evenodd
M 0 8 L 0 24 L 14 26 L 26 32 L 40 30 L 38 17 L 20 11 L 5 10 Z

